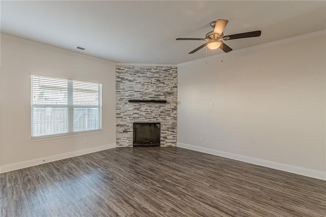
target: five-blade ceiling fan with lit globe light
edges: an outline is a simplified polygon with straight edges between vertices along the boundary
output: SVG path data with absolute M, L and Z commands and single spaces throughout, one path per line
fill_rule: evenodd
M 176 40 L 201 40 L 207 41 L 205 44 L 200 45 L 196 49 L 190 51 L 189 53 L 194 53 L 201 48 L 207 46 L 209 49 L 214 50 L 221 48 L 224 52 L 230 52 L 232 50 L 231 47 L 226 45 L 223 41 L 232 40 L 232 39 L 239 39 L 239 38 L 251 38 L 251 37 L 258 37 L 261 35 L 261 31 L 253 31 L 248 33 L 238 33 L 234 35 L 224 36 L 223 31 L 228 23 L 228 20 L 225 19 L 218 19 L 216 21 L 210 22 L 210 26 L 214 29 L 213 31 L 206 34 L 205 38 L 177 38 Z

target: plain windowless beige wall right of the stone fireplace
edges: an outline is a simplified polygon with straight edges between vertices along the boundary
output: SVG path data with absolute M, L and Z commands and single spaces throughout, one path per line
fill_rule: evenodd
M 179 65 L 178 146 L 324 174 L 325 58 L 321 35 Z

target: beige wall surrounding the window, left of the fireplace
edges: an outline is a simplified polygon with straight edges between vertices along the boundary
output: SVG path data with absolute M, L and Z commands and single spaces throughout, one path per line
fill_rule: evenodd
M 49 159 L 48 156 L 52 155 L 68 156 L 64 153 L 85 153 L 82 150 L 115 145 L 115 65 L 59 48 L 16 39 L 8 36 L 1 38 L 2 168 L 21 161 L 42 157 Z M 102 132 L 31 140 L 30 72 L 102 82 Z M 84 143 L 85 138 L 88 143 Z

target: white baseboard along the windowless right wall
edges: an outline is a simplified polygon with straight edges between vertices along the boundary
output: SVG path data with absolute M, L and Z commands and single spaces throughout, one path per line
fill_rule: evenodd
M 243 162 L 248 162 L 250 164 L 259 165 L 263 167 L 268 167 L 276 170 L 282 170 L 289 173 L 294 173 L 303 176 L 309 176 L 316 179 L 326 180 L 326 172 L 318 171 L 318 170 L 311 170 L 308 168 L 297 167 L 288 164 L 282 164 L 279 162 L 274 162 L 270 160 L 259 159 L 255 157 L 244 156 L 240 154 L 233 154 L 230 152 L 219 151 L 210 148 L 204 148 L 200 146 L 188 145 L 184 143 L 177 143 L 177 147 L 185 148 L 189 150 L 199 151 L 207 154 L 212 154 L 216 156 L 226 157 L 234 160 L 240 160 Z

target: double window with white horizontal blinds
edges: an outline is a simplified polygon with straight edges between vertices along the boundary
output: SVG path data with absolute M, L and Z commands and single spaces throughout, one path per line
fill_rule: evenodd
M 102 85 L 31 76 L 32 138 L 100 130 Z

